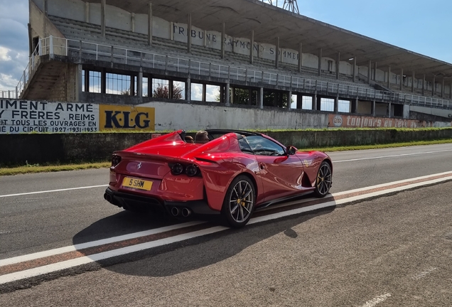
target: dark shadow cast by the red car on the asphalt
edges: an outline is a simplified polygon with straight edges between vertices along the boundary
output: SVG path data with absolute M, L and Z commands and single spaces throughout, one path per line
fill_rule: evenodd
M 247 247 L 262 242 L 274 235 L 284 232 L 291 239 L 300 239 L 292 227 L 314 217 L 333 212 L 335 207 L 305 212 L 278 220 L 259 222 L 247 225 L 242 229 L 226 229 L 210 235 L 186 239 L 181 242 L 166 244 L 151 249 L 145 249 L 131 254 L 124 254 L 96 261 L 109 271 L 133 276 L 172 276 L 185 271 L 210 266 L 233 257 Z M 175 222 L 173 222 L 175 224 Z M 114 237 L 126 233 L 151 230 L 157 227 L 171 225 L 161 217 L 136 215 L 130 212 L 120 212 L 99 220 L 73 238 L 75 245 L 87 242 L 92 237 Z M 203 227 L 217 226 L 217 220 L 210 220 Z M 96 235 L 99 234 L 99 235 Z M 107 236 L 109 234 L 109 236 Z M 84 250 L 79 250 L 84 253 Z M 90 257 L 90 254 L 86 254 Z

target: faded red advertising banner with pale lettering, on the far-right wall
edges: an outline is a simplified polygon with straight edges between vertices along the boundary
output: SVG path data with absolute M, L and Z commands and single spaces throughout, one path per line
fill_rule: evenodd
M 424 128 L 451 126 L 447 122 L 425 122 L 415 119 L 389 119 L 384 117 L 360 117 L 353 115 L 328 115 L 329 128 Z

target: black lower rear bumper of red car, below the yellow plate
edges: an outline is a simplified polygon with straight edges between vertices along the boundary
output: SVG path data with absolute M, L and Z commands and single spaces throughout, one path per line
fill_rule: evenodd
M 139 196 L 129 193 L 122 193 L 107 188 L 104 193 L 104 199 L 109 203 L 118 207 L 136 207 L 149 208 L 150 210 L 157 210 L 161 212 L 171 212 L 171 209 L 188 208 L 197 215 L 217 215 L 220 211 L 212 210 L 207 201 L 205 200 L 189 200 L 186 202 L 170 202 L 162 201 L 157 198 L 151 198 L 147 196 Z

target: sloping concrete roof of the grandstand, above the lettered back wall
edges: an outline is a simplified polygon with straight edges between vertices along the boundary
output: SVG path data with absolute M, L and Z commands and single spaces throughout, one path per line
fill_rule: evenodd
M 87 0 L 99 3 L 100 0 Z M 136 14 L 147 14 L 149 0 L 107 0 L 107 4 L 117 6 Z M 151 0 L 153 15 L 168 21 L 187 23 L 187 14 L 192 14 L 193 26 L 212 31 L 221 31 L 221 23 L 226 24 L 226 33 L 233 37 L 247 38 L 254 30 L 254 41 L 276 43 L 280 48 L 298 50 L 303 43 L 303 53 L 317 54 L 322 48 L 323 57 L 341 60 L 357 57 L 358 65 L 377 62 L 377 68 L 398 73 L 401 68 L 405 75 L 414 71 L 416 77 L 426 74 L 429 80 L 438 75 L 452 77 L 452 64 L 414 53 L 367 36 L 362 36 L 343 28 L 332 26 L 306 16 L 293 14 L 276 6 L 258 0 Z

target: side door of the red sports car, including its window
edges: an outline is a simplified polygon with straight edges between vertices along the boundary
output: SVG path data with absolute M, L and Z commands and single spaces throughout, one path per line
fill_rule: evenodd
M 289 156 L 283 147 L 264 136 L 247 136 L 247 141 L 259 163 L 265 201 L 303 190 L 303 164 L 296 155 Z

